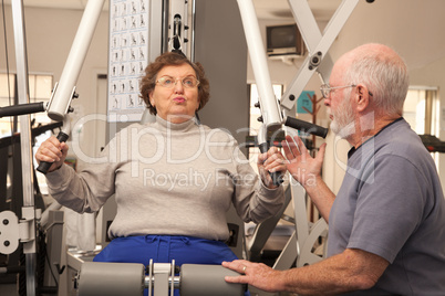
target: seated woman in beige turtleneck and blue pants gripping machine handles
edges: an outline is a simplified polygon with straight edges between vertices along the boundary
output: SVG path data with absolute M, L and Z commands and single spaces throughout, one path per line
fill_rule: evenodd
M 95 212 L 115 194 L 112 242 L 101 262 L 220 264 L 235 260 L 226 212 L 232 203 L 245 222 L 261 222 L 283 204 L 283 190 L 268 172 L 284 171 L 276 148 L 259 156 L 259 178 L 234 137 L 195 118 L 209 98 L 199 63 L 165 53 L 147 66 L 141 96 L 156 121 L 116 134 L 101 163 L 76 173 L 63 165 L 68 146 L 51 137 L 35 154 L 53 161 L 51 195 L 76 212 Z

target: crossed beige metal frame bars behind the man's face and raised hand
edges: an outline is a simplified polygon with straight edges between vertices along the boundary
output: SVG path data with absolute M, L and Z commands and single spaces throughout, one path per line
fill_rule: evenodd
M 314 72 L 319 74 L 322 83 L 329 81 L 333 63 L 328 51 L 359 3 L 359 0 L 343 0 L 329 21 L 324 34 L 322 34 L 307 0 L 288 1 L 309 54 L 290 87 L 281 97 L 280 106 L 284 114 L 294 108 L 296 98 L 300 96 Z M 289 253 L 291 253 L 292 258 L 297 258 L 298 267 L 321 261 L 322 257 L 312 253 L 312 247 L 320 236 L 327 235 L 328 224 L 324 219 L 321 218 L 312 226 L 308 223 L 304 189 L 297 182 L 291 182 L 291 186 L 294 202 L 296 233 L 290 239 L 293 243 L 288 244 L 278 257 L 273 266 L 277 269 L 290 268 L 289 262 L 293 262 L 293 260 L 289 260 Z M 292 247 L 294 244 L 297 244 L 297 250 Z M 293 253 L 293 250 L 297 253 Z

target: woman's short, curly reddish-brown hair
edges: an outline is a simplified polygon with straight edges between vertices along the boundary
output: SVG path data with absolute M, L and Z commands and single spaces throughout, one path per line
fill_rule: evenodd
M 156 108 L 149 103 L 149 95 L 154 92 L 156 86 L 157 74 L 165 66 L 180 66 L 184 64 L 188 64 L 195 70 L 196 78 L 199 81 L 198 110 L 207 104 L 210 97 L 210 85 L 205 75 L 203 65 L 200 63 L 190 62 L 184 54 L 166 52 L 156 57 L 156 60 L 145 68 L 145 75 L 141 78 L 139 96 L 144 99 L 151 114 L 156 115 L 157 113 Z

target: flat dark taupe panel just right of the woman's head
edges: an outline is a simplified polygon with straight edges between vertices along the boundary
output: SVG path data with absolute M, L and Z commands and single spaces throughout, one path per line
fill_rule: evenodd
M 228 129 L 242 144 L 247 134 L 240 130 L 249 125 L 247 44 L 237 2 L 197 1 L 196 41 L 195 60 L 210 81 L 210 101 L 199 112 L 200 119 L 211 128 Z

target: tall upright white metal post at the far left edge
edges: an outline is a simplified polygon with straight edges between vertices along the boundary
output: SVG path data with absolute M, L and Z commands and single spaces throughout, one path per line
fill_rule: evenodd
M 11 1 L 12 21 L 15 41 L 15 63 L 17 63 L 17 85 L 19 104 L 29 103 L 29 82 L 28 82 L 28 59 L 24 34 L 23 2 L 21 0 Z M 22 157 L 22 182 L 23 182 L 23 210 L 32 213 L 31 230 L 35 233 L 34 220 L 34 193 L 33 193 L 33 171 L 32 171 L 32 149 L 31 149 L 31 125 L 30 115 L 20 117 L 20 141 Z M 23 246 L 25 253 L 27 271 L 27 295 L 35 295 L 35 240 L 28 242 Z

